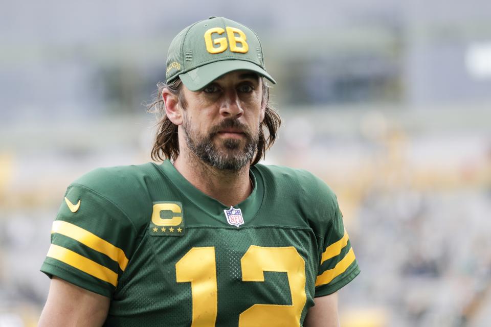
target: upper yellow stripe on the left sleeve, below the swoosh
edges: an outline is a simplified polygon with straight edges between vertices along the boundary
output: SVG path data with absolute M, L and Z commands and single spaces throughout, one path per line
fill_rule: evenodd
M 53 227 L 51 228 L 51 233 L 59 233 L 64 236 L 68 236 L 69 238 L 79 241 L 93 250 L 107 255 L 109 258 L 118 262 L 119 267 L 123 271 L 128 265 L 128 258 L 126 258 L 126 255 L 122 249 L 74 224 L 66 221 L 55 220 L 53 222 Z

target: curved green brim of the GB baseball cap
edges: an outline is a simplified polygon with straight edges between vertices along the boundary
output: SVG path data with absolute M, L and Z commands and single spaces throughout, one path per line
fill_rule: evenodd
M 260 76 L 264 76 L 273 84 L 276 84 L 276 81 L 273 79 L 273 77 L 271 77 L 271 75 L 268 74 L 264 69 L 262 69 L 255 63 L 244 60 L 222 60 L 212 62 L 207 65 L 194 68 L 192 71 L 179 75 L 179 77 L 188 89 L 190 89 L 191 91 L 197 91 L 210 84 L 222 75 L 241 70 L 255 72 Z

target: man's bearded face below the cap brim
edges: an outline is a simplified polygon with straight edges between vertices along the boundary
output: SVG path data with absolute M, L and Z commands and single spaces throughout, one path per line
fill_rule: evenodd
M 239 170 L 254 156 L 264 118 L 262 81 L 255 73 L 226 74 L 193 92 L 183 86 L 187 147 L 220 170 Z

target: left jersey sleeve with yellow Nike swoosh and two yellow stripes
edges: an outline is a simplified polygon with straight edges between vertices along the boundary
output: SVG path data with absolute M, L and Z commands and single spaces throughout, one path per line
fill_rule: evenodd
M 41 271 L 111 297 L 136 247 L 137 230 L 104 195 L 83 185 L 65 193 Z

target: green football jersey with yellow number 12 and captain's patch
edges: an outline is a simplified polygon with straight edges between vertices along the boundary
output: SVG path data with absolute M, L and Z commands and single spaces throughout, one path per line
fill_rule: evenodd
M 111 299 L 107 326 L 300 326 L 359 272 L 336 196 L 303 170 L 255 165 L 227 207 L 169 160 L 69 186 L 41 271 Z

